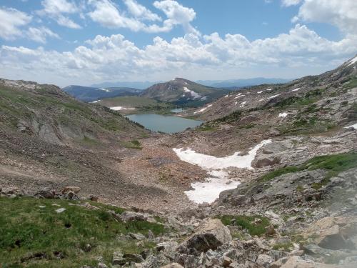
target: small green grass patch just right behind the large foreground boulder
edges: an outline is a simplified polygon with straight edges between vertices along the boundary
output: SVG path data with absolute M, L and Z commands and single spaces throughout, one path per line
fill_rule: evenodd
M 266 233 L 266 227 L 270 225 L 269 219 L 261 216 L 246 216 L 246 215 L 223 215 L 217 217 L 221 219 L 224 225 L 232 225 L 232 219 L 236 219 L 234 225 L 240 226 L 243 229 L 247 229 L 250 235 L 261 236 Z M 254 220 L 259 219 L 260 221 L 254 224 Z

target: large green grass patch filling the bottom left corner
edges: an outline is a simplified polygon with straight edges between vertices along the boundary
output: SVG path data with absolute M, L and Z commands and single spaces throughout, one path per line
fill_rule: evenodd
M 59 207 L 54 203 L 66 211 L 56 213 Z M 99 256 L 110 263 L 115 251 L 139 253 L 154 246 L 151 242 L 137 246 L 133 239 L 120 239 L 121 234 L 166 232 L 162 224 L 117 221 L 106 210 L 123 212 L 120 208 L 91 202 L 100 209 L 90 210 L 69 204 L 59 199 L 1 197 L 0 267 L 96 266 Z

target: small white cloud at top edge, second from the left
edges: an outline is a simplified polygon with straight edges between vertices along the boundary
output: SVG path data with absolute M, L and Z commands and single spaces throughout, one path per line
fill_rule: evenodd
M 80 11 L 79 6 L 76 6 L 74 2 L 68 0 L 44 0 L 41 1 L 41 5 L 43 9 L 36 12 L 40 16 L 49 16 L 57 24 L 67 28 L 81 29 L 79 24 L 69 19 L 68 16 L 64 16 L 64 14 L 76 14 Z

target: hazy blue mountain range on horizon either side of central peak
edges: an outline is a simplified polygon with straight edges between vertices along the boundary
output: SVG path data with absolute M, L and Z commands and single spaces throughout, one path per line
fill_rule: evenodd
M 286 83 L 293 79 L 280 79 L 280 78 L 263 78 L 256 77 L 251 79 L 230 79 L 230 80 L 198 80 L 196 83 L 203 84 L 205 86 L 213 86 L 220 88 L 233 88 L 241 86 L 256 86 L 258 84 L 279 84 Z M 131 81 L 131 82 L 104 82 L 100 84 L 92 84 L 91 87 L 107 88 L 107 87 L 131 87 L 135 89 L 147 89 L 154 84 L 163 83 L 164 81 Z

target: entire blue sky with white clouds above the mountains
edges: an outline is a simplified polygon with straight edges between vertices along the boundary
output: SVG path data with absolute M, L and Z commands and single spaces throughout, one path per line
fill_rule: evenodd
M 6 79 L 293 79 L 356 54 L 356 0 L 0 0 Z

